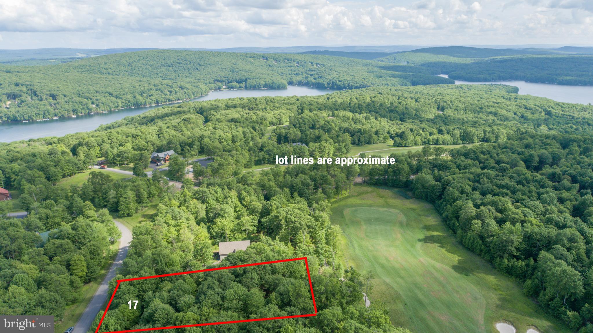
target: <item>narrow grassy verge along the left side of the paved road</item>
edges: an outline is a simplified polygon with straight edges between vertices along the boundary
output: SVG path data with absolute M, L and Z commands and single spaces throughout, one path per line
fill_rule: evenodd
M 107 275 L 107 271 L 109 271 L 109 267 L 111 267 L 111 264 L 113 264 L 118 250 L 119 241 L 110 246 L 105 264 L 103 265 L 101 273 L 97 276 L 97 278 L 82 286 L 82 288 L 76 293 L 76 299 L 74 300 L 74 303 L 66 306 L 66 311 L 64 312 L 62 321 L 56 323 L 55 325 L 55 333 L 62 333 L 69 327 L 76 325 L 76 322 L 78 322 L 78 319 L 80 319 L 80 316 L 82 316 L 82 312 L 84 312 L 84 309 L 87 308 L 88 302 L 91 302 L 95 292 L 97 292 L 101 281 L 103 281 Z

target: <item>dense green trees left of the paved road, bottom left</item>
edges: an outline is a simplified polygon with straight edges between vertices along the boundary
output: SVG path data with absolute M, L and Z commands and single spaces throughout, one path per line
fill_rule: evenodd
M 66 305 L 79 302 L 82 285 L 111 259 L 107 249 L 120 231 L 106 209 L 95 212 L 75 189 L 41 185 L 46 181 L 34 172 L 23 181 L 40 185 L 24 186 L 44 193 L 31 214 L 23 220 L 0 217 L 0 312 L 59 320 Z M 46 241 L 43 231 L 49 232 Z

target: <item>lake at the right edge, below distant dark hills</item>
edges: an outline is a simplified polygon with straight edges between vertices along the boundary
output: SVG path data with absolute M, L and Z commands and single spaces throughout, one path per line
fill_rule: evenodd
M 444 78 L 449 76 L 441 74 Z M 455 80 L 455 84 L 507 84 L 519 88 L 520 95 L 533 95 L 550 98 L 550 100 L 566 103 L 593 103 L 593 86 L 590 85 L 559 85 L 559 84 L 540 84 L 525 81 L 490 81 L 490 82 L 470 82 Z

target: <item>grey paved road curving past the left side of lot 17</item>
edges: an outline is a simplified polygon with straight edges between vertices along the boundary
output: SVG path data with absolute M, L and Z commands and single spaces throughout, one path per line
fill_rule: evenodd
M 87 333 L 91 324 L 93 324 L 97 313 L 99 313 L 100 310 L 103 310 L 103 303 L 111 297 L 110 294 L 107 294 L 109 292 L 109 281 L 115 277 L 117 268 L 122 266 L 122 262 L 126 258 L 127 249 L 129 248 L 130 241 L 132 241 L 132 232 L 130 232 L 130 229 L 127 229 L 126 226 L 122 225 L 122 223 L 117 221 L 114 222 L 117 228 L 122 231 L 122 238 L 119 240 L 119 252 L 117 252 L 117 257 L 115 258 L 115 261 L 113 261 L 113 264 L 111 264 L 109 272 L 107 272 L 107 276 L 103 279 L 103 282 L 101 282 L 95 296 L 93 296 L 93 299 L 88 303 L 82 316 L 78 319 L 78 322 L 76 322 L 74 333 Z M 94 327 L 94 329 L 96 329 L 96 327 Z

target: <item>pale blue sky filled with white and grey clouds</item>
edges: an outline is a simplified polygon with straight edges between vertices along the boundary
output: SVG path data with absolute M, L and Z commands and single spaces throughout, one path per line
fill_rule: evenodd
M 0 0 L 0 49 L 593 44 L 593 0 Z

